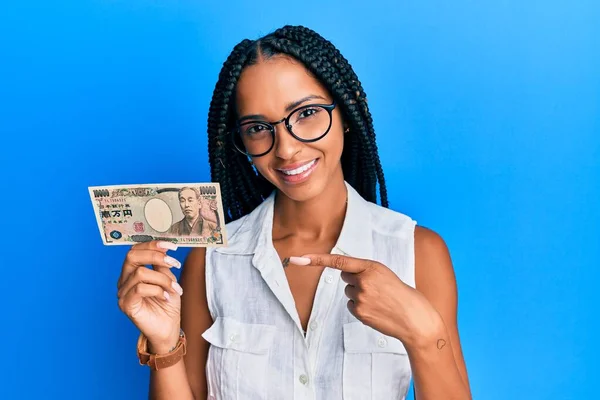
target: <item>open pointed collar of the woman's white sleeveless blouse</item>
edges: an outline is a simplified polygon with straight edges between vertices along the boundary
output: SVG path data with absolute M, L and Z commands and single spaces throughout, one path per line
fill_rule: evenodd
M 338 241 L 332 253 L 356 258 L 372 258 L 373 232 L 369 202 L 346 182 L 348 206 Z M 240 221 L 240 225 L 228 238 L 228 246 L 215 248 L 224 254 L 255 255 L 262 258 L 273 247 L 273 208 L 275 191 L 258 207 Z M 229 233 L 229 232 L 226 232 Z M 336 251 L 337 250 L 337 251 Z M 299 254 L 300 256 L 301 254 Z

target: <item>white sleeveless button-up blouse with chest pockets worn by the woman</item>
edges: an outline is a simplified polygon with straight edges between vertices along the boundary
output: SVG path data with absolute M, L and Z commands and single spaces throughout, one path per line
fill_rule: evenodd
M 376 260 L 415 287 L 410 217 L 364 200 L 349 184 L 334 254 Z M 209 399 L 403 400 L 412 377 L 402 342 L 346 308 L 340 271 L 325 268 L 306 335 L 273 247 L 274 193 L 226 226 L 229 245 L 206 252 L 214 324 L 206 363 Z

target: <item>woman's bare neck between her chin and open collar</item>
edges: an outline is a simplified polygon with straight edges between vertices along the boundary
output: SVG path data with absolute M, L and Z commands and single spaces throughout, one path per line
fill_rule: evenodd
M 296 201 L 277 193 L 275 199 L 273 238 L 300 236 L 308 240 L 339 236 L 346 215 L 347 189 L 339 173 L 319 195 Z

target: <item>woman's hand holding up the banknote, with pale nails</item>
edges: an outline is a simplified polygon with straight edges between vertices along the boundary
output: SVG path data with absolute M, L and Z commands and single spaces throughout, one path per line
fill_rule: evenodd
M 119 308 L 156 354 L 168 353 L 179 340 L 183 292 L 170 268 L 181 268 L 181 263 L 167 255 L 176 249 L 175 244 L 161 241 L 132 246 L 117 283 Z

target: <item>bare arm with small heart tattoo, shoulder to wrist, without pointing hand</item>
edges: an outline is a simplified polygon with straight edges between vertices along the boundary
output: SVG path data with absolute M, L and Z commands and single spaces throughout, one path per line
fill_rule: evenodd
M 437 233 L 420 226 L 415 229 L 415 264 L 416 289 L 443 320 L 434 336 L 409 349 L 415 399 L 471 399 L 458 334 L 458 293 L 450 254 Z

